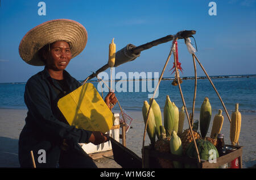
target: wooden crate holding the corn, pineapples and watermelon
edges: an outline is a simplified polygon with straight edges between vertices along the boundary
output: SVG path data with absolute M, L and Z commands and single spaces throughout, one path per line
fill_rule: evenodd
M 228 145 L 232 146 L 232 145 Z M 197 159 L 189 158 L 186 156 L 176 156 L 171 153 L 160 153 L 151 148 L 151 146 L 144 146 L 144 168 L 162 168 L 159 165 L 157 158 L 164 158 L 171 161 L 179 161 L 183 164 L 194 164 L 199 168 L 218 168 L 221 165 L 227 164 L 228 162 L 233 161 L 235 158 L 238 158 L 239 168 L 242 168 L 242 146 L 233 146 L 237 150 L 226 154 L 225 156 L 218 157 L 216 163 L 210 163 L 209 161 L 200 160 L 200 164 L 197 164 Z

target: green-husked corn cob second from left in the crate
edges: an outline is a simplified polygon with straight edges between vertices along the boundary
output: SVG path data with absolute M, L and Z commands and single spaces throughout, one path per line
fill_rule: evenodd
M 152 110 L 154 112 L 154 116 L 155 116 L 155 133 L 156 133 L 156 136 L 158 137 L 158 139 L 160 139 L 160 125 L 163 125 L 162 124 L 162 112 L 160 110 L 160 107 L 158 105 L 158 103 L 155 101 L 155 99 L 150 99 L 150 103 L 152 101 Z

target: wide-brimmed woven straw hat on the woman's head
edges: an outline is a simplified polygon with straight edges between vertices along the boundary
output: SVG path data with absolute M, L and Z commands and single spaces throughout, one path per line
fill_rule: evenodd
M 27 64 L 43 66 L 39 49 L 56 41 L 67 41 L 72 58 L 84 50 L 87 41 L 85 27 L 74 20 L 55 19 L 44 22 L 28 31 L 19 44 L 19 55 Z

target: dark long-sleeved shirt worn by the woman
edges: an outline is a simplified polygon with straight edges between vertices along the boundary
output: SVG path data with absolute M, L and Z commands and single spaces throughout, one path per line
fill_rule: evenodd
M 30 150 L 36 153 L 39 149 L 46 150 L 48 162 L 53 162 L 52 159 L 59 157 L 64 139 L 69 148 L 77 150 L 81 150 L 77 143 L 88 143 L 92 132 L 69 125 L 57 107 L 61 97 L 81 86 L 65 70 L 63 76 L 67 85 L 64 87 L 44 68 L 26 83 L 24 101 L 28 112 L 19 137 L 20 164 L 27 164 Z

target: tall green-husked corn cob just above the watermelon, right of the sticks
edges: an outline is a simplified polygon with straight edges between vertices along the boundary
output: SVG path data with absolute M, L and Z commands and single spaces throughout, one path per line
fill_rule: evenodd
M 212 107 L 210 106 L 209 98 L 205 97 L 204 102 L 201 105 L 200 120 L 199 120 L 200 132 L 203 139 L 207 135 L 211 117 L 212 117 Z

